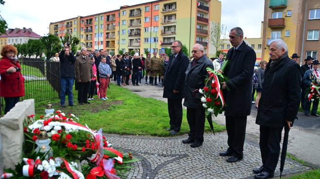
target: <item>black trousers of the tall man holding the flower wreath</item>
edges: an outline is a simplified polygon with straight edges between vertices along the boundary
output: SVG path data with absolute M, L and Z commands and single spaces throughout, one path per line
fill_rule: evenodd
M 232 156 L 244 157 L 245 128 L 247 116 L 226 116 L 226 132 L 228 134 L 228 149 Z

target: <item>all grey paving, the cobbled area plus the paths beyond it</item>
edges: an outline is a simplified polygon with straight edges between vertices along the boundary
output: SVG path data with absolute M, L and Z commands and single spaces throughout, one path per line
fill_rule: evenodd
M 144 84 L 145 79 L 142 79 L 142 82 L 139 84 L 140 86 L 130 85 L 124 88 L 143 97 L 152 97 L 167 102 L 167 99 L 162 98 L 161 85 Z M 114 82 L 112 83 L 114 84 Z M 282 176 L 309 170 L 310 166 L 316 168 L 320 166 L 320 119 L 316 117 L 306 119 L 303 116 L 303 113 L 298 114 L 299 122 L 302 124 L 304 120 L 318 121 L 316 125 L 310 127 L 294 125 L 289 133 L 288 153 L 309 164 L 302 165 L 287 158 Z M 253 108 L 247 120 L 245 156 L 242 161 L 236 163 L 228 163 L 226 157 L 221 157 L 218 154 L 227 148 L 226 132 L 216 135 L 205 134 L 205 142 L 199 148 L 191 148 L 188 144 L 181 142 L 188 138 L 187 134 L 167 138 L 112 134 L 107 134 L 106 137 L 110 143 L 116 141 L 113 147 L 122 148 L 122 151 L 132 151 L 134 156 L 141 159 L 134 164 L 135 169 L 130 173 L 130 179 L 252 179 L 254 176 L 252 169 L 262 165 L 259 149 L 259 125 L 255 124 L 255 117 L 256 110 Z M 214 121 L 225 125 L 223 115 L 218 115 Z M 280 161 L 276 168 L 275 178 L 279 178 L 279 170 Z

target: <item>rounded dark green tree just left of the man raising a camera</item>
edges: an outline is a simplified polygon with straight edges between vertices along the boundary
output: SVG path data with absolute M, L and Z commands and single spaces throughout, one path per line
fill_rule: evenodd
M 44 44 L 45 54 L 48 59 L 55 56 L 62 49 L 61 42 L 55 35 L 48 34 L 47 36 L 42 36 L 40 40 Z

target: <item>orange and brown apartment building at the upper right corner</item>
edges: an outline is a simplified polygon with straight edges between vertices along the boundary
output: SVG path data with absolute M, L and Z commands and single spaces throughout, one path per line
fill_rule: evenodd
M 269 58 L 268 43 L 281 38 L 301 65 L 309 55 L 319 60 L 319 0 L 264 0 L 264 22 L 262 59 Z

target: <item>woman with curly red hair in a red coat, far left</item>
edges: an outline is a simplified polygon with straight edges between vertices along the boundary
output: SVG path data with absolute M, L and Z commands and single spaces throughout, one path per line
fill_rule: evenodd
M 24 96 L 24 78 L 17 58 L 17 48 L 5 45 L 1 50 L 0 60 L 0 96 L 4 97 L 4 114 L 9 112 Z

